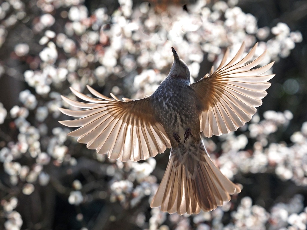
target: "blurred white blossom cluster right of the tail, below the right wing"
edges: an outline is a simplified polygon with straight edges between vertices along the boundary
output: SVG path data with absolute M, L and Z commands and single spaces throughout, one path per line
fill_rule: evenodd
M 292 113 L 286 110 L 284 113 L 266 111 L 264 120 L 253 117 L 247 125 L 247 133 L 235 136 L 233 133 L 222 135 L 224 140 L 223 155 L 218 159 L 218 164 L 224 174 L 232 178 L 238 171 L 242 173 L 272 173 L 274 172 L 282 180 L 292 180 L 298 186 L 306 186 L 307 183 L 307 123 L 303 123 L 301 131 L 292 134 L 291 144 L 285 142 L 271 142 L 271 134 L 278 128 L 286 128 Z M 252 154 L 244 150 L 248 138 L 255 140 Z

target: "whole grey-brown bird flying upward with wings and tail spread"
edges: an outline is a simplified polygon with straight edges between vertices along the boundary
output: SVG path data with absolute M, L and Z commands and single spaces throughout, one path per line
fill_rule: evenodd
M 82 109 L 59 108 L 68 116 L 60 121 L 80 127 L 69 136 L 87 144 L 110 159 L 139 161 L 171 148 L 165 174 L 150 207 L 179 215 L 208 212 L 230 201 L 242 186 L 231 182 L 210 158 L 200 133 L 220 136 L 237 130 L 250 121 L 274 77 L 266 75 L 274 64 L 257 67 L 267 51 L 253 59 L 257 44 L 243 56 L 245 44 L 229 61 L 227 48 L 220 65 L 191 84 L 186 63 L 172 48 L 173 64 L 169 75 L 154 93 L 132 100 L 100 94 L 87 85 L 96 98 L 70 88 L 79 102 L 62 96 L 69 105 Z M 256 68 L 255 68 L 256 67 Z

